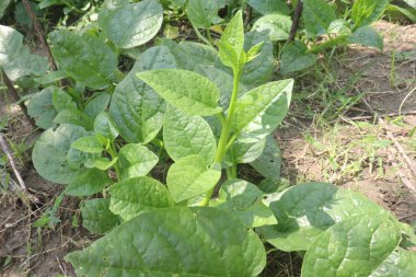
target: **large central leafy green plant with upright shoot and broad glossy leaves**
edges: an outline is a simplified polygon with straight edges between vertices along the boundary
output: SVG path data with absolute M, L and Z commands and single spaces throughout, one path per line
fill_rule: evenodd
M 265 193 L 236 178 L 236 164 L 245 162 L 274 177 L 270 157 L 278 150 L 270 134 L 288 111 L 293 84 L 291 79 L 259 86 L 244 82 L 246 67 L 266 46 L 246 48 L 246 37 L 238 12 L 219 53 L 165 41 L 145 51 L 117 85 L 109 116 L 134 143 L 125 146 L 130 146 L 126 153 L 142 158 L 139 148 L 161 139 L 174 163 L 164 185 L 139 170 L 154 161 L 115 161 L 127 175 L 82 209 L 83 223 L 105 235 L 66 257 L 79 276 L 257 276 L 266 263 L 265 241 L 305 252 L 302 276 L 415 272 L 416 256 L 406 250 L 413 230 L 365 197 L 325 183 Z M 60 177 L 83 174 L 62 160 L 71 151 L 76 157 L 103 151 L 96 143 L 102 137 L 82 127 L 61 125 L 47 132 L 35 150 L 59 153 L 60 159 L 45 161 Z M 115 132 L 103 136 L 112 145 Z M 223 169 L 228 174 L 221 180 Z

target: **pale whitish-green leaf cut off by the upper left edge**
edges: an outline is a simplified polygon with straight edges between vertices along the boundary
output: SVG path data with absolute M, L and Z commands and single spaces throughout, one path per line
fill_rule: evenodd
M 23 44 L 23 35 L 18 31 L 0 25 L 0 67 L 10 80 L 24 76 L 42 76 L 48 70 L 44 57 L 33 55 Z

